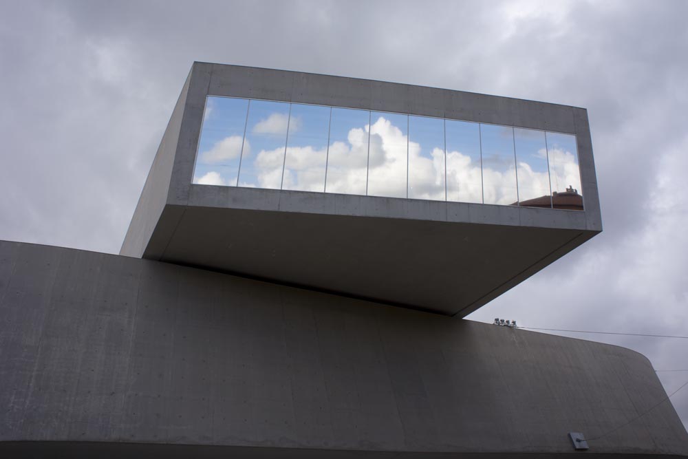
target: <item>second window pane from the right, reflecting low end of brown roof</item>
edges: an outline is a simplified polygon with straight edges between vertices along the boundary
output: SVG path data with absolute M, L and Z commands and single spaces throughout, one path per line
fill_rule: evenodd
M 514 128 L 519 205 L 551 207 L 545 132 Z

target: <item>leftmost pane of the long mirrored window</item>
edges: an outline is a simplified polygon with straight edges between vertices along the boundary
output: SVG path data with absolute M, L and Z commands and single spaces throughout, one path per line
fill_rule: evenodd
M 235 186 L 244 142 L 248 100 L 206 98 L 193 183 Z

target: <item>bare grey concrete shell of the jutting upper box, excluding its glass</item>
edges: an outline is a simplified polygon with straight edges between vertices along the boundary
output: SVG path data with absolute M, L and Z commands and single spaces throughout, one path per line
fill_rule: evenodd
M 208 94 L 575 134 L 585 211 L 194 185 L 193 164 Z M 601 229 L 585 109 L 194 63 L 120 253 L 464 317 Z M 261 240 L 247 244 L 256 234 Z

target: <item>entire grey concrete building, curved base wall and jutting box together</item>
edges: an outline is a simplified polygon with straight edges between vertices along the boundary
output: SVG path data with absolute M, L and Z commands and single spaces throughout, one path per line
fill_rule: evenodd
M 120 255 L 0 242 L 0 453 L 688 456 L 641 354 L 462 319 L 601 229 L 585 109 L 195 63 Z

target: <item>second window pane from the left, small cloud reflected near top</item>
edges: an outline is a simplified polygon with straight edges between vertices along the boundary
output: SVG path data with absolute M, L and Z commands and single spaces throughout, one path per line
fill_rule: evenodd
M 289 103 L 251 100 L 239 186 L 279 189 L 288 121 Z

